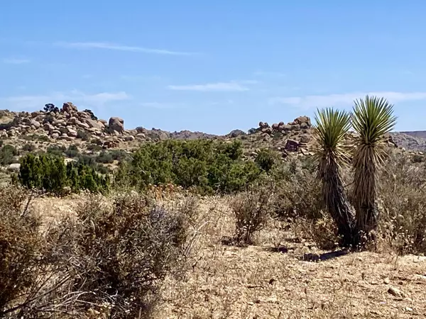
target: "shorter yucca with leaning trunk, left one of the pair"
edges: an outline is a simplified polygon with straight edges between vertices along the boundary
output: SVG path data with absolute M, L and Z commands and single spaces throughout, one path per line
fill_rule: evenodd
M 349 162 L 344 138 L 351 127 L 351 117 L 346 111 L 325 108 L 317 110 L 315 121 L 317 178 L 322 181 L 323 201 L 337 224 L 341 245 L 349 246 L 354 239 L 354 213 L 344 190 L 341 165 Z

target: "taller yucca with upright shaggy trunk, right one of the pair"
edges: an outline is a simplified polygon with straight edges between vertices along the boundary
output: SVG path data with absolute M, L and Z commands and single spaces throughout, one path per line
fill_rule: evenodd
M 377 228 L 377 179 L 386 156 L 385 135 L 395 126 L 396 118 L 393 116 L 393 105 L 384 98 L 366 96 L 354 103 L 352 125 L 358 133 L 352 163 L 356 230 L 359 235 L 371 240 Z

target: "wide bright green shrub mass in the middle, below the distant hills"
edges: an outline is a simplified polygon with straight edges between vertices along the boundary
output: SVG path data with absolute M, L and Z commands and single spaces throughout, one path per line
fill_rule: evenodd
M 143 189 L 148 184 L 177 184 L 200 191 L 231 193 L 246 189 L 261 174 L 241 159 L 241 142 L 167 140 L 143 145 L 119 166 L 118 185 Z

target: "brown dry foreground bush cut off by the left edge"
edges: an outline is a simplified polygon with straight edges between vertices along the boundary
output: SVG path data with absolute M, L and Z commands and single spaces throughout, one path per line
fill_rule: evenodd
M 0 318 L 25 306 L 41 284 L 41 223 L 28 203 L 23 189 L 0 188 Z

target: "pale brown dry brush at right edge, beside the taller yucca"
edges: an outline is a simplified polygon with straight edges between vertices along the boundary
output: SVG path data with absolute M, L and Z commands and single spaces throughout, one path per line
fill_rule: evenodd
M 425 253 L 425 163 L 394 153 L 387 159 L 379 182 L 381 243 L 401 253 Z

